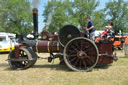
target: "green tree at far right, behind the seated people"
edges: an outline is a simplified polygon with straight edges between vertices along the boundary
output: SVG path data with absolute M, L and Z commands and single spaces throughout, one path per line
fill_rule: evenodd
M 109 20 L 113 21 L 116 33 L 119 30 L 124 31 L 124 29 L 128 27 L 128 2 L 124 0 L 111 0 L 106 3 L 105 11 Z

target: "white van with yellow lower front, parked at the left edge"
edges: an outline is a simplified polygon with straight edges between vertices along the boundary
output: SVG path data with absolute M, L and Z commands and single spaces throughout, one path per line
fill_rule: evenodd
M 15 38 L 15 34 L 0 32 L 0 52 L 9 52 L 13 50 L 17 44 Z

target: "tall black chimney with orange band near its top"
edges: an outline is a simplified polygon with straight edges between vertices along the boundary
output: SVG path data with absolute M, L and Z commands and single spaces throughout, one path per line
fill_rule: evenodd
M 38 38 L 38 9 L 33 8 L 34 38 Z

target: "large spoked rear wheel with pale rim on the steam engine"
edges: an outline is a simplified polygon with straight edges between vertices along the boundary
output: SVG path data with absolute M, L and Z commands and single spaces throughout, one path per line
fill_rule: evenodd
M 98 58 L 97 46 L 87 38 L 74 38 L 64 48 L 64 61 L 74 71 L 92 70 Z

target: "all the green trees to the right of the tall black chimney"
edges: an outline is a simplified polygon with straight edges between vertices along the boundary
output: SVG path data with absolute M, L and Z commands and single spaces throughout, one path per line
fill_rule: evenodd
M 99 4 L 98 0 L 50 0 L 44 7 L 44 29 L 54 32 L 66 24 L 82 29 L 87 26 L 86 18 L 91 17 L 96 30 L 112 21 L 115 32 L 128 31 L 128 2 L 110 0 L 104 9 L 98 10 Z

